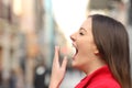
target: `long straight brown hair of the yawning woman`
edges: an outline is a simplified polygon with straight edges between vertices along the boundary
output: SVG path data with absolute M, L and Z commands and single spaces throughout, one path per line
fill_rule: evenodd
M 131 88 L 129 36 L 119 21 L 101 14 L 90 15 L 95 43 L 122 88 Z

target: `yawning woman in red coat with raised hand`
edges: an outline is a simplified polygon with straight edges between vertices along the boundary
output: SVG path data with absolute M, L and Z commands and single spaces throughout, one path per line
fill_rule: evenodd
M 112 18 L 94 14 L 70 35 L 76 54 L 72 65 L 87 76 L 75 88 L 131 88 L 129 38 L 125 28 Z M 50 88 L 58 88 L 66 70 L 67 59 L 55 57 Z

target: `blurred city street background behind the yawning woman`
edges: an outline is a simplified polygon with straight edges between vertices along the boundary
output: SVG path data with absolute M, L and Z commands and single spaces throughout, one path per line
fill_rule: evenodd
M 132 55 L 132 0 L 0 0 L 0 88 L 48 88 L 54 46 L 70 59 L 69 35 L 94 13 L 125 25 Z M 69 62 L 61 88 L 84 76 Z

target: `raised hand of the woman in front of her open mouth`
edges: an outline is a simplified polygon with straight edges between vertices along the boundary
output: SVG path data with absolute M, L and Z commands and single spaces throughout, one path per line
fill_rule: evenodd
M 55 47 L 55 55 L 52 67 L 52 76 L 50 88 L 58 88 L 66 73 L 67 58 L 64 57 L 62 65 L 59 65 L 59 47 Z

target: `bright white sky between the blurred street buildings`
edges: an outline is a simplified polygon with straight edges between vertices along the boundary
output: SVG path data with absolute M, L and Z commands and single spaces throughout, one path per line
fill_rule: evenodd
M 52 0 L 53 16 L 61 31 L 69 41 L 69 35 L 79 30 L 86 19 L 89 0 Z

